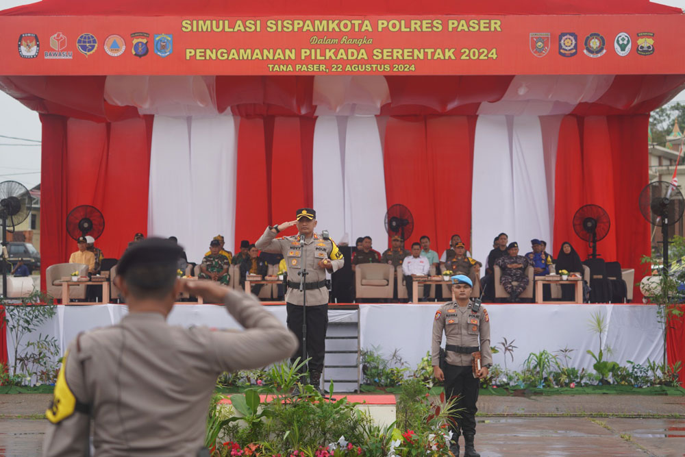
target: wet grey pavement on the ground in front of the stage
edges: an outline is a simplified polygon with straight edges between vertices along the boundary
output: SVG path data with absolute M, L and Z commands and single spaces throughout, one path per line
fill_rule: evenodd
M 40 455 L 47 421 L 13 418 L 44 412 L 49 399 L 0 395 L 0 457 Z M 481 397 L 476 449 L 483 457 L 685 456 L 684 403 L 632 395 Z M 597 413 L 618 417 L 582 417 Z

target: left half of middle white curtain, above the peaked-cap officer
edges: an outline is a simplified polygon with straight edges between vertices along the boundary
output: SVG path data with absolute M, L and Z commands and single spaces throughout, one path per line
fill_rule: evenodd
M 331 238 L 340 243 L 345 236 L 345 186 L 335 116 L 316 119 L 313 149 L 312 182 L 318 229 L 328 230 Z

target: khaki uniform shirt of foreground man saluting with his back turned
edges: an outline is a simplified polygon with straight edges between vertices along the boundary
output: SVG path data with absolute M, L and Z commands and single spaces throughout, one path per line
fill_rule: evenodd
M 73 397 L 92 407 L 97 456 L 195 456 L 217 376 L 264 367 L 297 349 L 295 336 L 253 297 L 229 292 L 225 306 L 247 330 L 182 328 L 162 314 L 134 312 L 76 338 L 46 412 L 53 423 L 43 456 L 90 455 L 90 417 L 74 412 Z

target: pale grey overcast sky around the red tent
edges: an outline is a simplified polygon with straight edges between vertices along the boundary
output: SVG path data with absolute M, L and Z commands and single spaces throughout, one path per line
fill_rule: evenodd
M 4 10 L 27 3 L 36 2 L 33 0 L 0 0 L 0 9 Z M 656 3 L 685 9 L 685 0 L 661 0 Z M 674 101 L 685 101 L 685 91 L 680 92 Z M 0 135 L 40 140 L 38 114 L 1 90 Z M 8 146 L 8 143 L 24 146 Z M 40 146 L 36 146 L 37 144 L 0 136 L 0 182 L 15 180 L 28 188 L 40 183 Z

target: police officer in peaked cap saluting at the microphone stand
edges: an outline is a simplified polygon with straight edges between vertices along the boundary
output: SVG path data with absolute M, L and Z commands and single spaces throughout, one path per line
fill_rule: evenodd
M 279 232 L 297 225 L 298 234 L 276 238 Z M 343 267 L 345 260 L 338 246 L 329 238 L 327 232 L 316 234 L 316 211 L 300 208 L 295 213 L 295 221 L 284 222 L 266 227 L 264 234 L 255 245 L 264 252 L 282 254 L 288 269 L 288 290 L 286 291 L 286 311 L 288 328 L 295 333 L 300 347 L 292 353 L 290 360 L 302 354 L 303 292 L 300 291 L 301 271 L 306 270 L 305 289 L 307 299 L 307 354 L 309 361 L 310 384 L 319 388 L 323 358 L 326 351 L 326 330 L 328 327 L 328 289 L 326 271 L 334 273 Z

